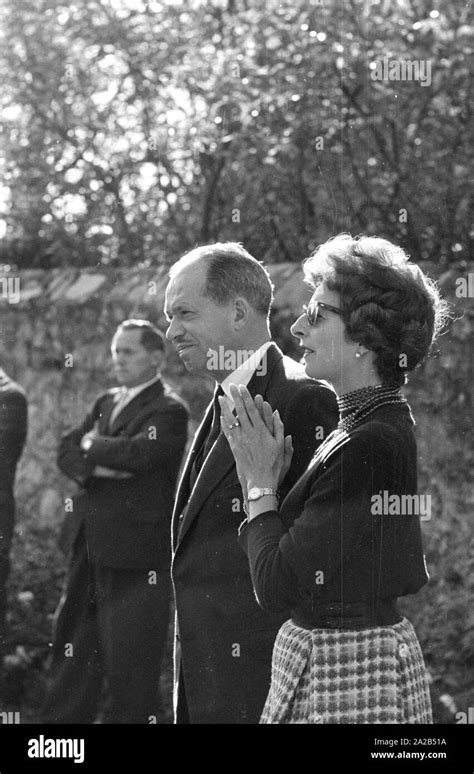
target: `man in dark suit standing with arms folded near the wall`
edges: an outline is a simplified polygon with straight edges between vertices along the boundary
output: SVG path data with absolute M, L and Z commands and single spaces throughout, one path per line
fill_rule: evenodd
M 81 486 L 64 525 L 71 551 L 55 615 L 42 720 L 153 723 L 170 612 L 170 519 L 187 411 L 162 383 L 164 337 L 126 320 L 112 340 L 120 387 L 61 441 L 58 465 Z

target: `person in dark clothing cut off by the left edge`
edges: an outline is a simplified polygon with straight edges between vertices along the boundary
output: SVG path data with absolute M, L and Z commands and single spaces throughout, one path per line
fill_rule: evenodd
M 15 520 L 13 490 L 26 440 L 27 415 L 23 389 L 0 368 L 0 668 L 6 653 L 6 584 Z

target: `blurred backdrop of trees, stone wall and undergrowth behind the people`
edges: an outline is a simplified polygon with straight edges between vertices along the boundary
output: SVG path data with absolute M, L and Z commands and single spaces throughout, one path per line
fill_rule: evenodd
M 270 270 L 272 332 L 297 356 L 289 325 L 305 300 L 301 261 L 341 231 L 401 244 L 452 303 L 449 330 L 405 390 L 432 514 L 431 581 L 403 609 L 435 721 L 474 707 L 468 9 L 2 0 L 0 365 L 27 392 L 29 436 L 0 711 L 35 722 L 43 696 L 71 494 L 56 449 L 112 384 L 117 324 L 144 316 L 165 329 L 169 266 L 197 244 L 241 241 Z M 403 79 L 390 63 L 408 61 L 419 67 Z M 165 376 L 190 406 L 191 434 L 212 385 L 171 351 Z M 171 639 L 160 722 L 171 718 L 170 652 Z

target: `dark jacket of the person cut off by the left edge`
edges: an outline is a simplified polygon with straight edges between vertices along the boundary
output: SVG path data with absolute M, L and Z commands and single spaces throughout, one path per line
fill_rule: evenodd
M 13 532 L 13 488 L 27 432 L 27 404 L 20 385 L 0 369 L 0 551 L 8 552 Z

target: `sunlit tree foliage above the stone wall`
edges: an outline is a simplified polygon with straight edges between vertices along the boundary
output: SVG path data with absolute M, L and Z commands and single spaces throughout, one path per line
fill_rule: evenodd
M 465 255 L 468 3 L 3 0 L 0 261 L 171 263 L 341 230 Z M 376 80 L 424 62 L 429 83 Z M 2 204 L 3 200 L 3 204 Z

